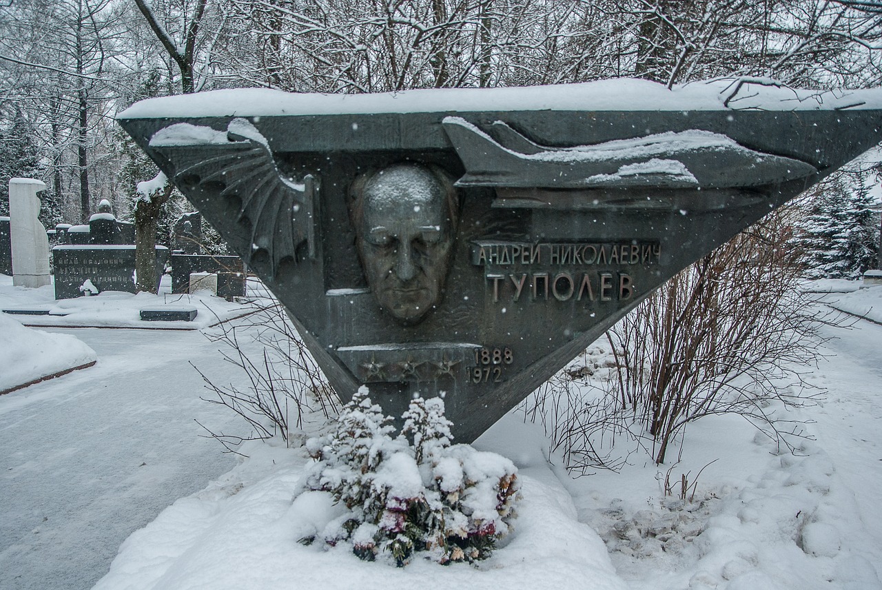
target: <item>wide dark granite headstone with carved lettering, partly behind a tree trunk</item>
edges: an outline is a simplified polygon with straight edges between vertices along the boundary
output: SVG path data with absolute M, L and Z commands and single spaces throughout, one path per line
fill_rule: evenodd
M 89 290 L 95 288 L 98 293 L 137 292 L 133 245 L 56 246 L 52 249 L 52 254 L 56 299 L 72 299 L 84 295 L 84 286 Z M 167 262 L 168 248 L 156 246 L 157 290 Z

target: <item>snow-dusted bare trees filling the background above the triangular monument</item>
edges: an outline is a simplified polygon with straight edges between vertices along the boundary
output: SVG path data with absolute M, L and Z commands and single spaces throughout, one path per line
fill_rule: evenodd
M 87 219 L 101 198 L 128 219 L 136 184 L 156 170 L 109 115 L 149 96 L 241 86 L 363 93 L 614 77 L 672 85 L 751 76 L 809 88 L 882 80 L 882 28 L 871 3 L 140 4 L 142 10 L 108 0 L 0 6 L 0 130 L 10 131 L 20 111 L 40 158 L 34 174 L 49 185 L 65 220 Z M 30 166 L 12 160 L 17 169 Z

